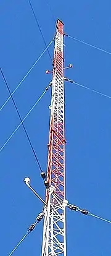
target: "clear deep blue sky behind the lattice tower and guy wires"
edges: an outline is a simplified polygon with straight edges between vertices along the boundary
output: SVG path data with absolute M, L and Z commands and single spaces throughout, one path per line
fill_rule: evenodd
M 31 0 L 39 25 L 48 44 L 55 33 L 54 19 L 47 1 Z M 62 19 L 65 32 L 111 52 L 109 0 L 52 1 L 55 19 Z M 43 38 L 27 0 L 1 1 L 1 67 L 11 92 L 44 50 Z M 51 54 L 53 47 L 50 48 Z M 111 96 L 111 56 L 70 38 L 65 39 L 65 75 L 78 83 Z M 14 99 L 22 118 L 51 80 L 48 54 L 36 64 L 15 92 Z M 0 106 L 9 97 L 0 75 Z M 47 168 L 49 108 L 51 92 L 25 121 L 31 142 L 42 168 Z M 81 208 L 111 220 L 111 100 L 71 83 L 65 83 L 66 103 L 66 179 L 67 199 Z M 0 112 L 0 146 L 19 124 L 12 101 Z M 1 169 L 1 255 L 9 252 L 26 233 L 41 211 L 42 204 L 25 186 L 31 184 L 44 198 L 39 169 L 22 127 L 0 153 Z M 67 256 L 110 255 L 111 225 L 67 209 Z M 25 239 L 14 255 L 41 255 L 43 223 Z

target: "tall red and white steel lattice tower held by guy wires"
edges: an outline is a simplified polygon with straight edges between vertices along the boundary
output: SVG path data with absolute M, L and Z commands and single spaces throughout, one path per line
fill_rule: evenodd
M 66 256 L 65 237 L 65 127 L 64 127 L 64 23 L 57 20 L 52 75 L 49 130 L 46 215 L 42 256 Z

